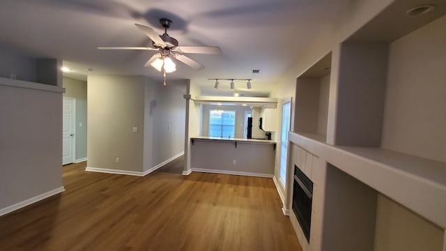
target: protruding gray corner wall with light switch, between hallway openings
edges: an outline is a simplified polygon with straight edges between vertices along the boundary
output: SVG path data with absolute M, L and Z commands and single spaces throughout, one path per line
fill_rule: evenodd
M 185 81 L 89 76 L 87 86 L 88 167 L 145 172 L 183 153 Z

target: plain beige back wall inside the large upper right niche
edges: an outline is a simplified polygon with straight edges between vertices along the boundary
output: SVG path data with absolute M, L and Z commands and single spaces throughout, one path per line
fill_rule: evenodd
M 383 148 L 446 162 L 445 27 L 443 16 L 390 45 Z

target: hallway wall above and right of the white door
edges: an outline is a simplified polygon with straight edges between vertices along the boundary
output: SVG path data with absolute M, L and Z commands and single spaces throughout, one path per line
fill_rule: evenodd
M 86 82 L 70 77 L 63 77 L 63 87 L 65 88 L 63 98 L 76 99 L 76 161 L 82 160 L 86 158 Z M 82 126 L 80 123 L 82 123 Z

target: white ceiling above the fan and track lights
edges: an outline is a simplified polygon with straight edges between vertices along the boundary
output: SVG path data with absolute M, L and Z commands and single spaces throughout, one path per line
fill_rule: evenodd
M 146 75 L 162 73 L 144 64 L 154 52 L 103 51 L 98 46 L 151 46 L 136 26 L 163 29 L 158 20 L 173 20 L 169 36 L 180 45 L 219 46 L 221 55 L 188 54 L 203 70 L 177 63 L 169 79 L 192 79 L 204 95 L 231 94 L 229 81 L 253 79 L 252 89 L 236 81 L 245 96 L 267 96 L 298 52 L 323 33 L 330 33 L 351 0 L 2 0 L 0 42 L 36 57 L 63 60 L 75 78 L 87 74 Z M 87 72 L 86 68 L 92 68 Z M 253 74 L 253 69 L 260 69 Z M 217 91 L 217 92 L 216 92 Z

